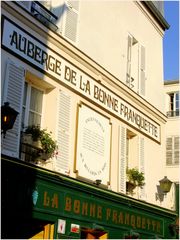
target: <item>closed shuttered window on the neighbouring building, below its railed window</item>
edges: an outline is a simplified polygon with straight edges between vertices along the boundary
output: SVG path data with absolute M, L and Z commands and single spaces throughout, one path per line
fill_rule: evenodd
M 179 164 L 179 136 L 166 138 L 166 164 Z

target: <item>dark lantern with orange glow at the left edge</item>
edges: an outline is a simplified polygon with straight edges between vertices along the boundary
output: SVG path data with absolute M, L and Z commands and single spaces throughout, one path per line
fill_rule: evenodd
M 16 117 L 19 113 L 9 106 L 9 102 L 5 102 L 1 106 L 1 134 L 6 135 L 6 132 L 13 128 Z

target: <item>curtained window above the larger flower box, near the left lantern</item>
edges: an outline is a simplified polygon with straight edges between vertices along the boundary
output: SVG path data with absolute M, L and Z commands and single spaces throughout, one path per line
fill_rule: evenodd
M 28 125 L 40 125 L 42 119 L 43 91 L 25 83 L 23 107 L 22 107 L 22 127 Z

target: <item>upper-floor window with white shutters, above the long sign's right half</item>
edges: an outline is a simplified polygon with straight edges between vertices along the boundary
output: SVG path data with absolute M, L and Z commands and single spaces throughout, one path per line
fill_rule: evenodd
M 136 38 L 128 36 L 126 84 L 145 95 L 145 48 Z

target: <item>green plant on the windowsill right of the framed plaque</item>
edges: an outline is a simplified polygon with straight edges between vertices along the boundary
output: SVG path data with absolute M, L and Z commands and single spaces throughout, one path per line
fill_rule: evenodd
M 139 172 L 137 168 L 127 168 L 126 175 L 128 181 L 133 183 L 135 186 L 142 187 L 145 185 L 144 173 Z

